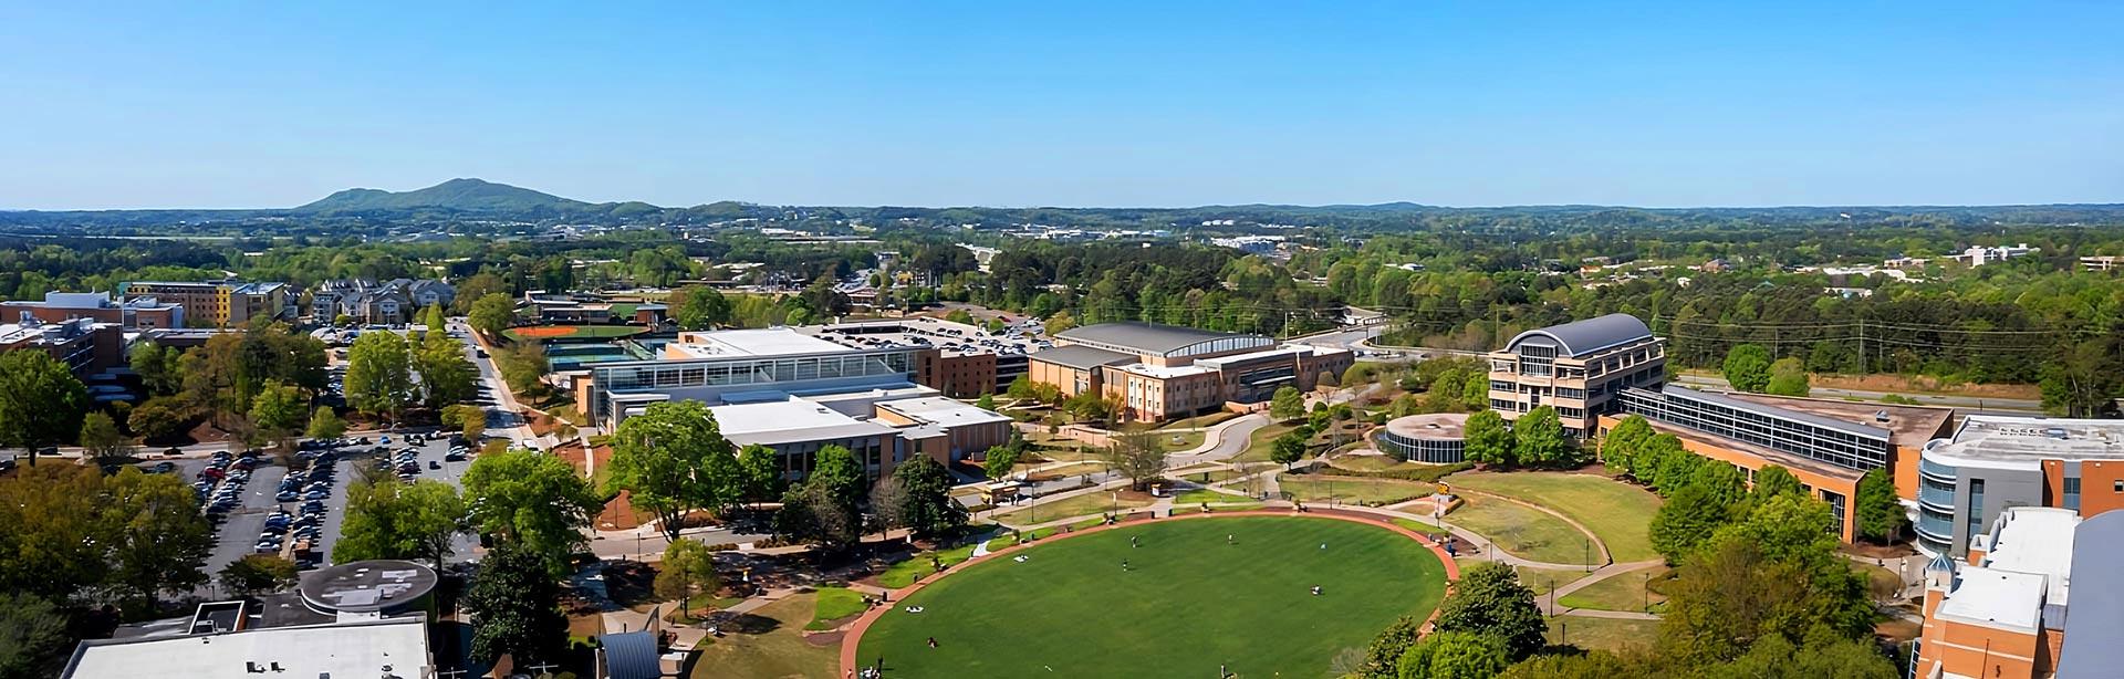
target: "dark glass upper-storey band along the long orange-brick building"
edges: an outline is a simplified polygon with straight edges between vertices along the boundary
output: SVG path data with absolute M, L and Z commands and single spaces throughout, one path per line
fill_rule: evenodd
M 1631 388 L 1621 399 L 1623 412 L 1640 414 L 1646 420 L 1689 426 L 1856 471 L 1888 465 L 1888 431 L 1884 429 L 1856 426 L 1869 431 L 1854 433 L 1846 426 L 1814 422 L 1795 412 L 1740 403 L 1686 388 L 1659 393 Z

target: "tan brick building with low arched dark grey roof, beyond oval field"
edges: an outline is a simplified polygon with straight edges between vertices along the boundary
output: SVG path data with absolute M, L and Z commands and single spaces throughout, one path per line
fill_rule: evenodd
M 1085 325 L 1054 340 L 1054 348 L 1030 356 L 1032 382 L 1054 384 L 1064 397 L 1119 401 L 1126 418 L 1149 422 L 1253 407 L 1277 388 L 1313 388 L 1321 373 L 1340 376 L 1355 363 L 1342 348 L 1149 323 Z

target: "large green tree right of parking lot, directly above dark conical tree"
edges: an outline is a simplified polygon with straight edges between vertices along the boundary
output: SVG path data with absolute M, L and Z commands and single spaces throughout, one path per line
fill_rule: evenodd
M 465 499 L 472 526 L 537 554 L 552 575 L 567 573 L 569 556 L 586 543 L 582 528 L 605 505 L 573 465 L 531 450 L 474 458 Z

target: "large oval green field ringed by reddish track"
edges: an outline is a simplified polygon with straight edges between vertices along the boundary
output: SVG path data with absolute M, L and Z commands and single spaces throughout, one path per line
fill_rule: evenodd
M 858 658 L 884 656 L 886 677 L 1177 677 L 1219 664 L 1319 677 L 1336 651 L 1366 647 L 1398 615 L 1429 615 L 1444 594 L 1444 567 L 1417 541 L 1321 518 L 1149 522 L 1022 554 L 896 603 Z

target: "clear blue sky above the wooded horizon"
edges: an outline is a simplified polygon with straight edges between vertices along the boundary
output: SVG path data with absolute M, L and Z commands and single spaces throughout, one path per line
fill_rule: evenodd
M 2124 202 L 2113 0 L 709 4 L 4 2 L 0 208 Z

